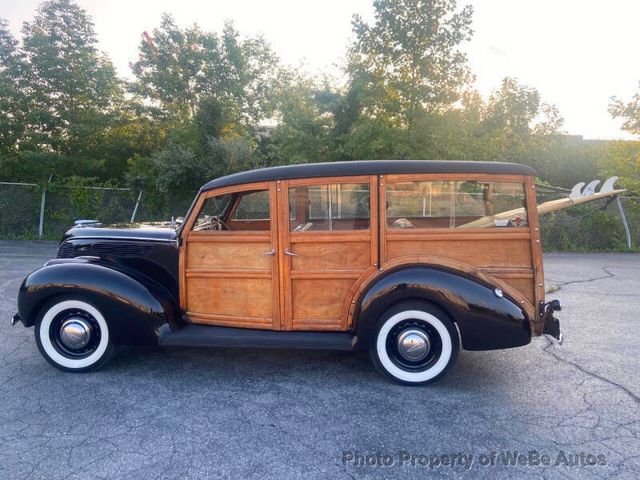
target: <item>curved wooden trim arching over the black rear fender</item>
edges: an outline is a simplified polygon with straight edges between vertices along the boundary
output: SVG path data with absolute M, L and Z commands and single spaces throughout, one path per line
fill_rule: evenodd
M 518 290 L 516 290 L 513 286 L 508 284 L 507 282 L 495 277 L 492 274 L 484 272 L 481 268 L 474 267 L 468 263 L 460 262 L 458 260 L 452 260 L 450 258 L 445 257 L 436 257 L 429 255 L 411 255 L 406 257 L 395 258 L 389 262 L 386 262 L 383 265 L 383 268 L 380 270 L 371 270 L 366 275 L 363 275 L 358 282 L 356 282 L 357 286 L 354 286 L 353 293 L 348 302 L 345 302 L 343 306 L 343 316 L 347 316 L 347 325 L 353 326 L 353 314 L 355 311 L 355 307 L 358 301 L 358 298 L 362 294 L 362 292 L 373 282 L 377 277 L 382 275 L 384 271 L 387 271 L 391 268 L 403 266 L 403 265 L 433 265 L 433 266 L 441 266 L 447 267 L 452 270 L 458 270 L 463 273 L 467 273 L 477 277 L 480 280 L 483 280 L 490 285 L 495 285 L 502 289 L 504 293 L 513 298 L 520 307 L 525 311 L 527 316 L 530 318 L 531 322 L 535 322 L 535 307 L 531 302 Z

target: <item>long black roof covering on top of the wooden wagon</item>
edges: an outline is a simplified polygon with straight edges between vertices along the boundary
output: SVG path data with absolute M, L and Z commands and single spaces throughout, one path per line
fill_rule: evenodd
M 340 177 L 348 175 L 388 175 L 393 173 L 495 173 L 535 175 L 533 168 L 519 163 L 470 162 L 458 160 L 357 160 L 352 162 L 305 163 L 260 168 L 211 180 L 200 190 L 243 183 L 290 180 L 294 178 Z

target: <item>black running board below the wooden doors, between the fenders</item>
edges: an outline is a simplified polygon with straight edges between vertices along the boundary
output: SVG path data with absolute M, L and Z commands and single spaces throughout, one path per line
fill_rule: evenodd
M 175 347 L 304 348 L 353 350 L 356 336 L 348 332 L 290 332 L 190 324 L 171 331 L 160 328 L 158 344 Z

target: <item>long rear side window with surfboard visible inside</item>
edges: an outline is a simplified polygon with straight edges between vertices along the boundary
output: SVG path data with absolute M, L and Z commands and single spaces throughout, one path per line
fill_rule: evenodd
M 524 185 L 518 182 L 420 181 L 387 185 L 392 229 L 526 227 Z

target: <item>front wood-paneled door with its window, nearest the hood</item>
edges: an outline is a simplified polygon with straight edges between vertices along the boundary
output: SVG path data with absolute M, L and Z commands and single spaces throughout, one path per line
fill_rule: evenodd
M 280 329 L 274 182 L 203 195 L 185 225 L 181 306 L 193 323 Z

